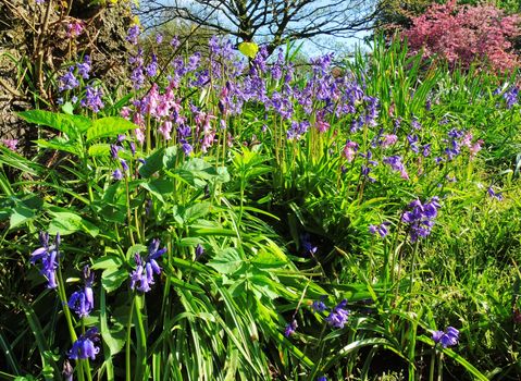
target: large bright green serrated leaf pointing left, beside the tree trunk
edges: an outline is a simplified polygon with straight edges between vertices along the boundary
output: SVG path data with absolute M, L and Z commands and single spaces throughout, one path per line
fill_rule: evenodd
M 61 131 L 72 140 L 76 140 L 78 134 L 85 132 L 91 124 L 88 118 L 82 115 L 69 115 L 44 110 L 23 111 L 18 112 L 18 115 L 29 123 L 47 125 Z

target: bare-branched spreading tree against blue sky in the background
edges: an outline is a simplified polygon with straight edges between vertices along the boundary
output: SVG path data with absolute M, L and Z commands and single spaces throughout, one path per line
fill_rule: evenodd
M 286 41 L 370 30 L 380 8 L 376 0 L 146 0 L 137 13 L 148 27 L 183 20 L 273 52 Z

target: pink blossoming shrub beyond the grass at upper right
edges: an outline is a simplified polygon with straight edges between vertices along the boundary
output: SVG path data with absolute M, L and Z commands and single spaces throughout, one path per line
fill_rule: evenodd
M 412 27 L 404 32 L 412 53 L 423 51 L 425 58 L 439 56 L 451 67 L 468 69 L 472 63 L 505 72 L 519 66 L 512 51 L 512 39 L 521 35 L 521 17 L 491 4 L 457 5 L 456 0 L 433 4 L 412 19 Z

